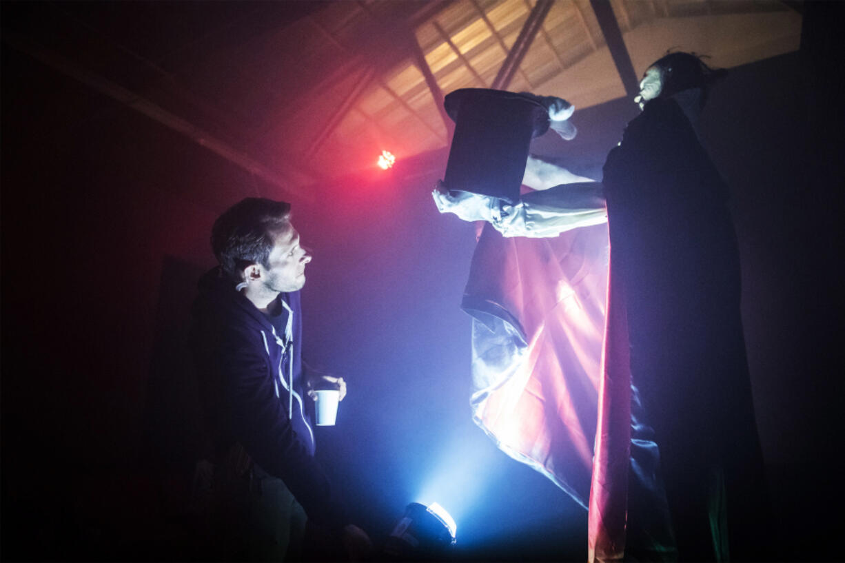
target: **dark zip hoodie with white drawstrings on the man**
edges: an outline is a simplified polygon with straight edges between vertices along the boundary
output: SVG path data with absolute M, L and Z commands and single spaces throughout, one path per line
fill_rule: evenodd
M 303 392 L 299 292 L 277 299 L 292 311 L 292 342 L 285 331 L 288 309 L 281 303 L 281 315 L 271 321 L 235 291 L 219 268 L 199 281 L 192 346 L 212 456 L 219 462 L 232 445 L 243 445 L 264 472 L 284 481 L 309 519 L 340 529 L 346 523 L 343 507 L 313 458 L 313 424 L 306 411 L 311 399 Z

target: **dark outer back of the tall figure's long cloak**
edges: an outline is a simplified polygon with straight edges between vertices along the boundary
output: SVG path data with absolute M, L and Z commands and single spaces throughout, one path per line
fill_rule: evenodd
M 765 560 L 771 529 L 727 185 L 679 103 L 663 98 L 628 124 L 603 183 L 631 380 L 660 447 L 679 557 L 727 558 L 730 538 L 732 559 Z M 637 495 L 632 485 L 629 539 L 654 514 Z

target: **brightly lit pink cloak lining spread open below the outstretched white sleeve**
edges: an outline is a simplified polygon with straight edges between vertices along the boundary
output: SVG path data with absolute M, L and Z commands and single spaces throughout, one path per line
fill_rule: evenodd
M 462 303 L 473 317 L 474 421 L 585 508 L 607 280 L 606 225 L 556 238 L 503 238 L 487 225 Z

